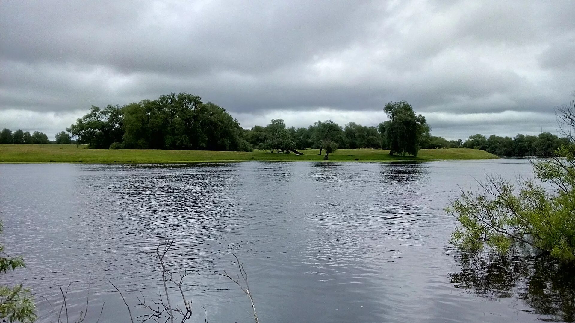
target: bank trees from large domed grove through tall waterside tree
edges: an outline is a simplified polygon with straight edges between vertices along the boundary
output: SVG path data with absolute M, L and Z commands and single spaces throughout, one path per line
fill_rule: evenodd
M 386 105 L 389 121 L 379 126 L 350 122 L 343 129 L 331 120 L 308 128 L 286 128 L 281 119 L 266 126 L 241 128 L 223 107 L 205 103 L 198 95 L 160 95 L 125 106 L 92 106 L 66 130 L 78 144 L 99 149 L 202 149 L 218 151 L 295 152 L 318 148 L 388 148 L 390 153 L 417 155 L 429 133 L 425 117 L 416 116 L 405 101 Z M 329 153 L 328 152 L 328 153 Z

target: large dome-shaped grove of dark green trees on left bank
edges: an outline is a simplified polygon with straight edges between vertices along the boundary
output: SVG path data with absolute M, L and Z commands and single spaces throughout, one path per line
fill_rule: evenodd
M 250 151 L 244 130 L 224 108 L 197 95 L 160 95 L 125 106 L 93 106 L 67 128 L 89 148 Z

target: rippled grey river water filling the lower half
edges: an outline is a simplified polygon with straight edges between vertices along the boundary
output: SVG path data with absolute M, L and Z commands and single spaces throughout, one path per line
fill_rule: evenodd
M 194 319 L 250 322 L 239 288 L 250 278 L 261 322 L 573 321 L 573 271 L 538 257 L 481 257 L 447 243 L 443 212 L 458 186 L 498 173 L 529 176 L 526 160 L 418 164 L 0 164 L 1 238 L 28 268 L 2 274 L 37 294 L 56 321 L 59 286 L 78 316 L 127 322 L 112 280 L 135 305 L 160 286 L 154 251 L 189 276 Z M 90 282 L 90 283 L 89 283 Z M 175 290 L 174 290 L 175 292 Z M 175 295 L 175 294 L 174 294 Z M 137 312 L 137 309 L 136 309 Z M 137 314 L 137 313 L 135 313 Z M 72 320 L 72 315 L 71 320 Z

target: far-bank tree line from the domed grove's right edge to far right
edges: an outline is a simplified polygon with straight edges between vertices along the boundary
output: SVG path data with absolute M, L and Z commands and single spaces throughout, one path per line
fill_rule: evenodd
M 432 136 L 431 128 L 424 116 L 415 116 L 407 102 L 392 102 L 384 110 L 389 111 L 388 121 L 376 126 L 363 126 L 348 122 L 343 127 L 331 120 L 317 121 L 308 128 L 286 128 L 283 120 L 271 120 L 267 126 L 256 125 L 246 130 L 246 140 L 256 149 L 289 152 L 290 149 L 321 149 L 324 141 L 335 143 L 338 148 L 389 149 L 390 153 L 417 155 L 417 150 L 438 148 L 481 149 L 497 156 L 541 156 L 554 155 L 568 138 L 560 138 L 549 132 L 538 136 L 517 134 L 515 137 L 501 137 L 492 134 L 469 136 L 465 141 L 447 140 Z M 321 152 L 320 152 L 321 154 Z

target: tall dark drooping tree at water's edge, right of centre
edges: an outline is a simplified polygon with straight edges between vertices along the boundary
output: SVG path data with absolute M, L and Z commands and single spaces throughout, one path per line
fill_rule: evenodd
M 389 154 L 408 153 L 417 156 L 420 142 L 425 133 L 429 132 L 425 117 L 416 115 L 413 107 L 405 102 L 389 102 L 384 107 L 389 120 L 380 126 L 384 132 L 386 146 L 389 147 Z

